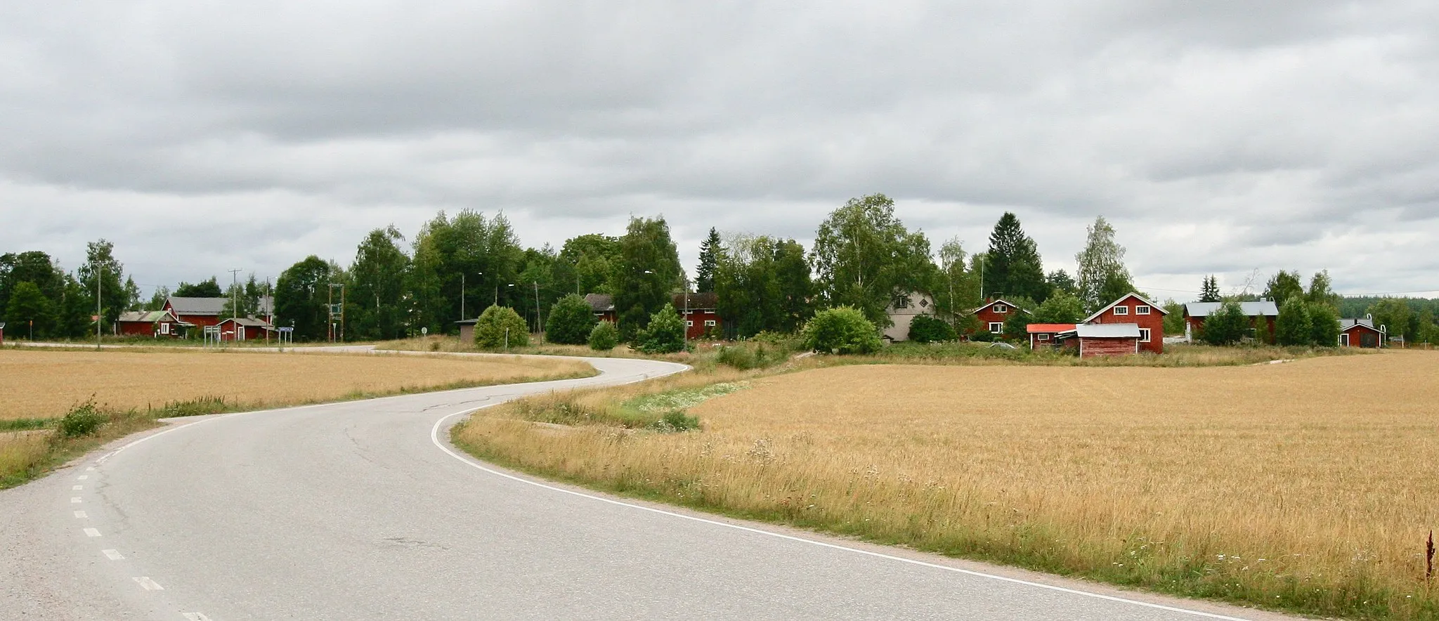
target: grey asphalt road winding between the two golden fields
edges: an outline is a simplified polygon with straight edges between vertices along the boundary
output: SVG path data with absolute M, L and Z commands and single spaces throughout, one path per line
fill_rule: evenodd
M 1279 618 L 603 497 L 459 415 L 681 369 L 180 421 L 0 492 L 3 620 Z

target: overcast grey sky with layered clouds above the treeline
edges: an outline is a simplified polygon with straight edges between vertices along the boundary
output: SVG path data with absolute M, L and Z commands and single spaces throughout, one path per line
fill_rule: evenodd
M 145 295 L 460 208 L 537 247 L 663 214 L 692 273 L 871 193 L 1071 273 L 1102 214 L 1158 298 L 1439 289 L 1433 0 L 19 0 L 0 132 L 0 252 L 105 237 Z

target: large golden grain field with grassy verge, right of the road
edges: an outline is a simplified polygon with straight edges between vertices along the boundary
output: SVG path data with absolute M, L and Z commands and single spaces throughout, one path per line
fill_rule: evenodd
M 701 433 L 555 434 L 515 420 L 531 404 L 486 411 L 456 440 L 610 490 L 944 553 L 1312 614 L 1439 617 L 1425 576 L 1436 352 L 850 365 L 568 398 L 704 381 L 747 388 L 691 408 Z

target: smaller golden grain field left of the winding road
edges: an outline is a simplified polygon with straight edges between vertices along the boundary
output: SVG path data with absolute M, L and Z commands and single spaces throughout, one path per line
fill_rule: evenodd
M 91 397 L 117 410 L 201 397 L 282 405 L 591 372 L 583 362 L 519 356 L 0 349 L 0 420 L 58 417 Z

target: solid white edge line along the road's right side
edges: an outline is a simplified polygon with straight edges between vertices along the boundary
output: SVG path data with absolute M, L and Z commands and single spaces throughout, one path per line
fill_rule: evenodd
M 478 407 L 478 408 L 458 411 L 458 413 L 445 415 L 443 418 L 435 421 L 435 427 L 430 428 L 430 441 L 435 443 L 435 446 L 439 447 L 442 451 L 448 453 L 450 457 L 455 457 L 455 459 L 463 461 L 466 466 L 475 467 L 478 470 L 484 470 L 486 473 L 491 473 L 491 474 L 495 474 L 495 476 L 499 476 L 499 477 L 505 477 L 505 479 L 509 479 L 509 480 L 514 480 L 514 482 L 519 482 L 519 483 L 524 483 L 524 484 L 535 486 L 535 487 L 540 487 L 540 489 L 547 489 L 547 490 L 551 490 L 551 492 L 567 493 L 570 496 L 578 496 L 578 497 L 584 497 L 584 499 L 590 499 L 590 500 L 599 500 L 599 502 L 609 503 L 609 505 L 616 505 L 616 506 L 623 506 L 623 507 L 630 507 L 630 509 L 639 509 L 639 510 L 645 510 L 645 512 L 650 512 L 650 513 L 659 513 L 659 515 L 663 515 L 663 516 L 686 519 L 686 520 L 691 520 L 691 522 L 699 522 L 699 523 L 705 523 L 705 525 L 711 525 L 711 526 L 721 526 L 721 528 L 728 528 L 728 529 L 735 529 L 735 530 L 744 530 L 744 532 L 750 532 L 750 533 L 755 533 L 755 535 L 764 535 L 764 536 L 771 536 L 771 538 L 777 538 L 777 539 L 787 539 L 787 540 L 793 540 L 793 542 L 816 545 L 816 546 L 820 546 L 820 548 L 829 548 L 829 549 L 836 549 L 836 551 L 853 552 L 853 553 L 859 553 L 859 555 L 865 555 L 865 556 L 882 558 L 882 559 L 886 559 L 886 561 L 898 561 L 898 562 L 902 562 L 902 564 L 920 565 L 920 566 L 925 566 L 925 568 L 931 568 L 931 569 L 943 569 L 943 571 L 947 571 L 947 572 L 964 574 L 964 575 L 976 576 L 976 578 L 989 578 L 989 579 L 994 579 L 994 581 L 1000 581 L 1000 582 L 1010 582 L 1010 584 L 1017 584 L 1017 585 L 1025 585 L 1025 586 L 1042 588 L 1042 589 L 1048 589 L 1048 591 L 1058 591 L 1058 592 L 1071 594 L 1071 595 L 1082 595 L 1082 597 L 1088 597 L 1088 598 L 1105 599 L 1105 601 L 1112 601 L 1112 602 L 1120 602 L 1120 604 L 1131 604 L 1131 605 L 1144 607 L 1144 608 L 1154 608 L 1154 610 L 1161 610 L 1161 611 L 1180 612 L 1180 614 L 1187 614 L 1187 615 L 1193 615 L 1193 617 L 1204 617 L 1204 618 L 1223 620 L 1223 621 L 1248 621 L 1248 620 L 1243 620 L 1243 618 L 1239 618 L 1239 617 L 1226 617 L 1226 615 L 1215 614 L 1215 612 L 1191 611 L 1191 610 L 1184 610 L 1184 608 L 1167 607 L 1167 605 L 1163 605 L 1163 604 L 1153 604 L 1153 602 L 1145 602 L 1145 601 L 1138 601 L 1138 599 L 1125 599 L 1125 598 L 1121 598 L 1121 597 L 1094 594 L 1094 592 L 1078 591 L 1078 589 L 1065 588 L 1065 586 L 1046 585 L 1046 584 L 1042 584 L 1042 582 L 1030 582 L 1030 581 L 1023 581 L 1023 579 L 1019 579 L 1019 578 L 1006 578 L 1006 576 L 1000 576 L 1000 575 L 994 575 L 994 574 L 977 572 L 977 571 L 973 571 L 973 569 L 960 569 L 960 568 L 954 568 L 954 566 L 948 566 L 948 565 L 938 565 L 938 564 L 931 564 L 931 562 L 924 562 L 924 561 L 917 561 L 917 559 L 908 559 L 908 558 L 904 558 L 904 556 L 892 556 L 892 555 L 886 555 L 886 553 L 881 553 L 881 552 L 872 552 L 872 551 L 865 551 L 865 549 L 859 549 L 859 548 L 849 548 L 849 546 L 842 546 L 842 545 L 820 542 L 820 540 L 814 540 L 814 539 L 804 539 L 804 538 L 797 538 L 797 536 L 793 536 L 793 535 L 783 535 L 783 533 L 770 532 L 770 530 L 760 530 L 760 529 L 750 528 L 750 526 L 740 526 L 740 525 L 732 525 L 732 523 L 725 523 L 725 522 L 717 522 L 717 520 L 711 520 L 711 519 L 688 516 L 688 515 L 684 515 L 684 513 L 668 512 L 668 510 L 663 510 L 663 509 L 655 509 L 655 507 L 648 507 L 648 506 L 642 506 L 642 505 L 632 505 L 632 503 L 627 503 L 627 502 L 612 500 L 612 499 L 602 497 L 602 496 L 593 496 L 593 494 L 587 494 L 587 493 L 581 493 L 581 492 L 567 490 L 564 487 L 555 487 L 555 486 L 551 486 L 551 484 L 544 484 L 544 483 L 540 483 L 540 482 L 532 482 L 532 480 L 528 480 L 528 479 L 521 479 L 521 477 L 517 477 L 514 474 L 508 474 L 508 473 L 502 473 L 499 470 L 494 470 L 494 469 L 485 467 L 485 466 L 476 463 L 475 460 L 466 459 L 466 457 L 460 456 L 459 453 L 455 453 L 448 446 L 445 446 L 443 443 L 440 443 L 440 426 L 443 426 L 445 421 L 448 421 L 448 420 L 450 420 L 453 417 L 458 417 L 460 414 L 472 414 L 472 413 L 476 413 L 479 410 L 484 410 L 484 408 L 488 408 L 488 407 L 494 407 L 494 405 L 499 405 L 499 404 L 482 405 L 482 407 Z

